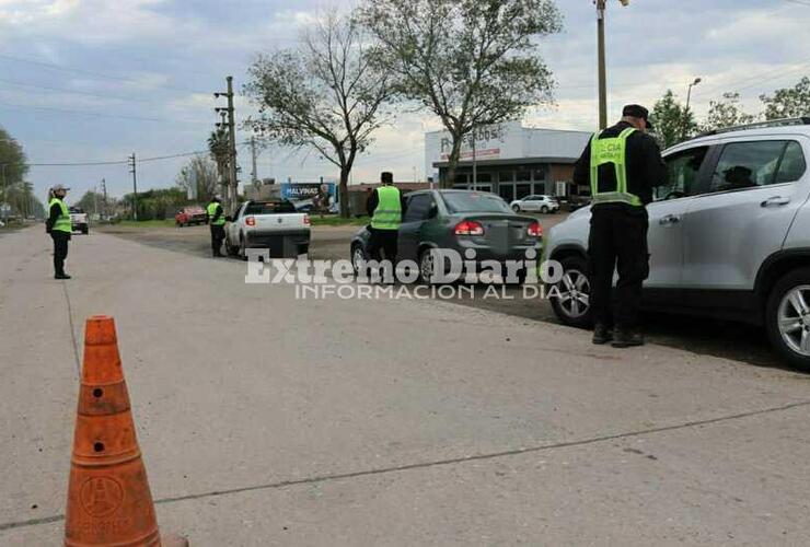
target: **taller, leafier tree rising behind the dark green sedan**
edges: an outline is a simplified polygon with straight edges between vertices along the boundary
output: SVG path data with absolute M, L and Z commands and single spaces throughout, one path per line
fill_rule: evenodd
M 551 102 L 551 71 L 533 38 L 559 32 L 553 0 L 367 0 L 358 19 L 406 97 L 430 109 L 452 138 L 452 186 L 465 136 Z

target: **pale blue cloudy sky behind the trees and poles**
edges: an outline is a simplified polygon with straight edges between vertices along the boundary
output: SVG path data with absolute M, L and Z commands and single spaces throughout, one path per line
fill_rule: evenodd
M 556 81 L 553 105 L 531 108 L 528 127 L 591 131 L 598 120 L 595 11 L 591 0 L 557 0 L 562 33 L 540 42 Z M 0 126 L 30 163 L 120 162 L 32 166 L 44 199 L 61 183 L 68 201 L 106 181 L 111 196 L 131 191 L 127 156 L 138 163 L 138 189 L 172 186 L 187 156 L 206 150 L 217 121 L 212 93 L 233 75 L 241 93 L 257 54 L 296 47 L 300 33 L 346 0 L 0 0 Z M 609 118 L 622 105 L 652 106 L 668 89 L 705 116 L 709 101 L 739 91 L 751 112 L 759 95 L 810 74 L 810 0 L 609 0 Z M 236 96 L 238 124 L 255 112 Z M 222 101 L 220 100 L 220 103 Z M 220 104 L 220 106 L 222 106 Z M 397 181 L 425 179 L 424 133 L 440 129 L 430 113 L 402 114 L 377 133 L 352 182 L 380 171 Z M 250 139 L 240 130 L 238 141 Z M 250 149 L 239 148 L 242 178 Z M 317 154 L 276 147 L 261 151 L 258 176 L 314 182 L 336 178 Z

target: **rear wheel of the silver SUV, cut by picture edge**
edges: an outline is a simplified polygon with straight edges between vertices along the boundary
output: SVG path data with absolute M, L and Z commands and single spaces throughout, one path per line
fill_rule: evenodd
M 791 271 L 777 281 L 765 307 L 765 327 L 782 357 L 810 371 L 810 268 Z

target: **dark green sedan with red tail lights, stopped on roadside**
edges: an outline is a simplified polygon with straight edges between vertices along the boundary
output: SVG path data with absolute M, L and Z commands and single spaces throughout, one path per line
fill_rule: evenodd
M 474 190 L 417 190 L 406 196 L 398 231 L 400 260 L 415 260 L 423 281 L 435 268 L 432 248 L 452 249 L 464 256 L 475 251 L 475 261 L 525 260 L 528 249 L 540 256 L 542 228 L 537 219 L 517 214 L 502 198 Z M 351 263 L 359 272 L 370 258 L 369 226 L 361 229 L 350 244 Z M 518 272 L 520 280 L 525 271 Z

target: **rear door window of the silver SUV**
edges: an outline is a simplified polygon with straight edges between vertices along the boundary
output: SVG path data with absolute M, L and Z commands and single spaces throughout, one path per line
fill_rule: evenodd
M 709 191 L 756 188 L 801 178 L 805 154 L 796 141 L 732 142 L 722 149 Z

